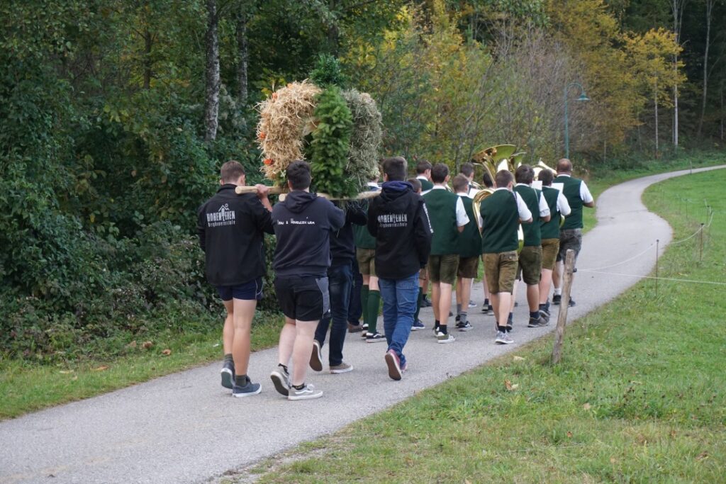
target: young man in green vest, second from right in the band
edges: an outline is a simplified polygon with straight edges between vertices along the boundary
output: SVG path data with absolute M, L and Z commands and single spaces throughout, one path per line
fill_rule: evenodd
M 550 320 L 550 286 L 552 285 L 552 271 L 555 260 L 560 252 L 560 214 L 570 215 L 570 204 L 560 190 L 552 188 L 552 179 L 555 177 L 550 170 L 542 170 L 537 177 L 542 181 L 542 197 L 550 208 L 551 218 L 542 221 L 539 230 L 542 234 L 542 280 L 539 282 L 539 316 Z

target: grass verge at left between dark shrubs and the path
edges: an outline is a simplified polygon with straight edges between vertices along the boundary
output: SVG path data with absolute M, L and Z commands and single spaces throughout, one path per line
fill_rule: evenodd
M 205 332 L 166 332 L 134 340 L 129 342 L 128 354 L 119 358 L 92 358 L 90 361 L 68 361 L 55 365 L 0 359 L 0 419 L 220 361 L 222 322 L 220 320 L 217 327 L 210 327 Z M 256 317 L 252 349 L 276 345 L 281 323 L 282 316 Z M 151 343 L 149 348 L 144 348 L 146 340 Z M 169 353 L 166 354 L 165 350 Z

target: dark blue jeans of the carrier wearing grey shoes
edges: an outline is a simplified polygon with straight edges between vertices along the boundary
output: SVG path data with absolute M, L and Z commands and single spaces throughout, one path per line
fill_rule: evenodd
M 330 366 L 343 363 L 343 343 L 348 332 L 348 301 L 353 287 L 353 265 L 351 262 L 330 266 L 327 269 L 328 288 L 330 291 L 330 313 L 318 323 L 315 339 L 320 345 L 325 343 L 327 329 L 330 327 L 330 350 L 328 362 Z M 333 324 L 330 324 L 333 316 Z

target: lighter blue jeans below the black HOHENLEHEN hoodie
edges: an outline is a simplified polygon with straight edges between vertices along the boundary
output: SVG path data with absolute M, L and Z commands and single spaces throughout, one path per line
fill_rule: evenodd
M 386 330 L 388 349 L 406 364 L 403 350 L 411 334 L 413 315 L 418 298 L 418 273 L 405 279 L 378 279 L 380 298 L 383 299 L 383 328 Z

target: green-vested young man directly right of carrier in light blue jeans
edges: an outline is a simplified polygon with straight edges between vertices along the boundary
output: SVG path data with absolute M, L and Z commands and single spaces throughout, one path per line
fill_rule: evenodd
M 446 190 L 449 167 L 436 163 L 431 170 L 433 189 L 423 196 L 431 218 L 431 255 L 428 256 L 428 276 L 431 277 L 434 332 L 438 343 L 453 343 L 448 320 L 452 305 L 452 285 L 459 268 L 459 234 L 469 223 L 464 202 L 457 194 Z M 468 302 L 468 300 L 467 300 Z

